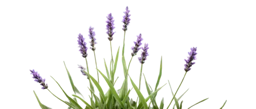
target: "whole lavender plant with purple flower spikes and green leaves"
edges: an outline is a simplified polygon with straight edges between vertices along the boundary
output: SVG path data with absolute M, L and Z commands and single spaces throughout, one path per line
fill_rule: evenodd
M 144 41 L 143 33 L 139 33 L 135 36 L 135 40 L 131 45 L 131 57 L 129 61 L 126 61 L 126 32 L 129 29 L 129 24 L 131 22 L 131 9 L 129 6 L 126 6 L 123 11 L 122 16 L 122 31 L 123 31 L 123 39 L 121 47 L 117 47 L 116 51 L 114 52 L 113 47 L 113 40 L 115 35 L 115 20 L 113 13 L 108 13 L 105 17 L 105 34 L 108 36 L 108 41 L 110 44 L 110 56 L 111 60 L 108 64 L 106 59 L 103 57 L 103 71 L 98 68 L 98 61 L 96 56 L 97 51 L 97 34 L 93 25 L 89 25 L 87 36 L 88 38 L 84 37 L 82 33 L 77 33 L 77 46 L 78 51 L 85 62 L 85 65 L 80 65 L 77 68 L 81 72 L 83 76 L 87 76 L 89 81 L 89 86 L 87 86 L 87 90 L 89 91 L 89 101 L 86 101 L 81 91 L 75 85 L 73 80 L 73 76 L 68 69 L 65 60 L 62 60 L 62 66 L 66 70 L 66 75 L 68 77 L 70 88 L 72 90 L 72 94 L 68 94 L 65 89 L 62 88 L 60 83 L 53 77 L 50 78 L 54 81 L 54 83 L 60 88 L 61 92 L 66 96 L 65 99 L 60 98 L 54 92 L 52 92 L 47 84 L 46 78 L 42 77 L 37 70 L 29 69 L 29 74 L 31 74 L 32 79 L 41 86 L 41 90 L 47 90 L 52 96 L 56 99 L 64 103 L 68 106 L 68 108 L 131 108 L 131 109 L 141 109 L 141 108 L 177 108 L 182 109 L 184 108 L 182 104 L 184 103 L 184 95 L 189 91 L 190 88 L 187 88 L 182 94 L 178 96 L 178 92 L 186 78 L 188 72 L 192 70 L 192 66 L 196 65 L 196 61 L 198 59 L 198 47 L 192 46 L 187 51 L 187 56 L 184 58 L 183 62 L 183 70 L 184 74 L 182 76 L 181 82 L 176 88 L 173 90 L 173 87 L 170 81 L 160 85 L 162 80 L 162 74 L 164 72 L 164 58 L 160 56 L 159 61 L 159 70 L 157 75 L 157 80 L 155 83 L 155 87 L 153 88 L 147 81 L 147 77 L 143 73 L 144 64 L 147 62 L 150 53 L 148 52 L 150 49 L 150 43 Z M 143 43 L 144 42 L 144 43 Z M 96 78 L 90 73 L 90 65 L 89 65 L 89 51 L 92 52 L 94 57 L 94 69 L 96 72 Z M 131 64 L 134 58 L 140 63 L 139 69 L 139 81 L 138 84 L 133 80 L 130 69 Z M 119 61 L 121 62 L 122 66 L 122 73 L 123 73 L 123 80 L 122 85 L 120 88 L 116 88 L 115 85 L 118 81 L 117 78 L 117 69 L 119 65 Z M 100 85 L 100 77 L 103 78 L 105 84 L 108 85 L 108 89 L 106 91 L 103 90 L 102 86 Z M 131 86 L 131 87 L 130 87 Z M 141 90 L 142 87 L 145 87 L 147 96 L 144 97 Z M 157 103 L 157 94 L 159 91 L 162 90 L 165 86 L 168 86 L 170 93 L 171 93 L 171 100 L 165 106 L 164 100 L 160 99 L 160 103 Z M 138 95 L 138 100 L 135 100 L 129 97 L 131 90 L 134 90 Z M 98 94 L 96 93 L 98 92 Z M 51 108 L 48 105 L 39 102 L 40 98 L 36 94 L 35 91 L 32 91 L 38 105 L 40 108 Z M 197 106 L 200 103 L 205 102 L 208 100 L 209 97 L 201 99 L 200 101 L 190 105 L 188 109 L 191 107 Z M 223 108 L 226 104 L 227 100 L 222 104 L 221 108 Z

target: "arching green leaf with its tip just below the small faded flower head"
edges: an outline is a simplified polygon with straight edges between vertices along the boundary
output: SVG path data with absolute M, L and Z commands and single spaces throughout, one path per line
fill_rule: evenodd
M 81 69 L 83 70 L 83 69 Z M 86 73 L 87 76 L 89 76 L 89 78 L 91 78 L 92 83 L 95 85 L 95 87 L 97 88 L 99 94 L 101 95 L 101 97 L 103 97 L 103 100 L 105 101 L 105 96 L 104 96 L 104 91 L 103 88 L 101 87 L 101 85 L 98 83 L 98 81 L 94 78 L 94 76 L 90 73 L 88 73 L 87 71 L 84 71 L 84 73 Z

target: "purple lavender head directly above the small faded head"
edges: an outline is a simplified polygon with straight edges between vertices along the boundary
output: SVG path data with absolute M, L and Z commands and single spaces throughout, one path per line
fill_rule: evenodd
M 83 36 L 82 33 L 77 33 L 76 34 L 76 42 L 77 42 L 77 47 L 78 47 L 78 51 L 81 54 L 82 58 L 86 58 L 89 56 L 88 53 L 88 46 L 87 46 L 87 42 L 86 42 L 86 38 Z

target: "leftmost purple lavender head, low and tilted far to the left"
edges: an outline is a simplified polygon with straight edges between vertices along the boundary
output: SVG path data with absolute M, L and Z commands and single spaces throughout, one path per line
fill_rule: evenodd
M 46 78 L 42 77 L 37 70 L 29 69 L 29 74 L 31 74 L 31 78 L 33 79 L 33 81 L 35 81 L 35 83 L 40 85 L 41 90 L 45 90 L 49 88 Z

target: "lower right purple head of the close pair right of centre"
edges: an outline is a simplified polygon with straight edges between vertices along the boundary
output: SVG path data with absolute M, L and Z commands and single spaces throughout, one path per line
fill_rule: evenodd
M 144 42 L 143 45 L 140 46 L 140 56 L 137 57 L 137 60 L 140 64 L 145 64 L 148 60 L 148 57 L 150 56 L 148 50 L 150 50 L 150 43 Z

